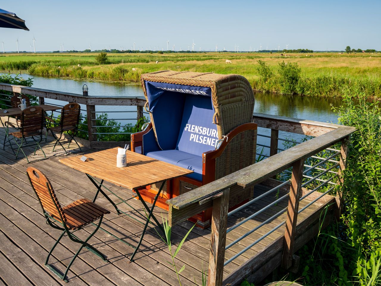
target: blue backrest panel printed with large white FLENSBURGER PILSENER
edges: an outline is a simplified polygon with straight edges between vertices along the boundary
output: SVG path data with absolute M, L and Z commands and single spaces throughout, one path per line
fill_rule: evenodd
M 213 150 L 218 141 L 214 112 L 207 96 L 187 95 L 176 149 L 198 156 Z

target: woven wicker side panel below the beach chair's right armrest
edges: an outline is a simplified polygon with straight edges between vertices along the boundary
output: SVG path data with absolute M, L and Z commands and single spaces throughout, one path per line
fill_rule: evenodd
M 235 136 L 224 152 L 216 158 L 216 180 L 255 163 L 257 130 L 246 130 Z M 236 186 L 242 188 L 241 186 Z M 229 199 L 229 207 L 253 197 L 253 188 L 244 190 L 237 198 Z

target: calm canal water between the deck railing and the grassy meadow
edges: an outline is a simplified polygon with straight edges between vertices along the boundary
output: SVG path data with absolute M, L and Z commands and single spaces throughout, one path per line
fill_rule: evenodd
M 33 77 L 33 87 L 57 90 L 60 92 L 71 92 L 82 94 L 82 86 L 88 86 L 89 96 L 144 96 L 140 85 L 123 84 L 119 82 L 89 82 L 84 80 L 62 79 L 53 77 L 31 76 L 22 74 L 22 77 Z M 46 104 L 55 103 L 62 104 L 61 101 L 46 99 Z M 298 95 L 279 95 L 274 93 L 255 93 L 254 112 L 272 114 L 278 116 L 308 119 L 321 122 L 337 123 L 337 114 L 332 110 L 331 106 L 338 107 L 342 104 L 341 98 L 323 98 L 313 96 Z M 130 111 L 136 110 L 134 106 L 97 106 L 96 111 Z M 126 118 L 126 113 L 113 112 L 109 114 L 109 118 L 122 119 Z M 120 121 L 122 125 L 125 123 L 134 123 L 136 118 L 134 113 L 130 114 L 131 120 Z M 258 133 L 269 135 L 269 130 L 258 129 Z M 282 132 L 280 137 L 290 138 L 291 134 Z M 303 136 L 294 136 L 296 140 L 301 140 Z M 268 145 L 268 140 L 258 138 L 258 142 Z M 282 148 L 282 147 L 280 147 Z

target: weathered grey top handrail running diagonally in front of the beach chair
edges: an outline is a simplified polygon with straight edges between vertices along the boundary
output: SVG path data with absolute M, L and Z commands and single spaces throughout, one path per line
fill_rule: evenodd
M 291 167 L 294 162 L 315 155 L 341 141 L 354 131 L 354 127 L 341 127 L 331 130 L 226 177 L 169 199 L 166 203 L 169 206 L 170 225 L 182 222 L 211 207 L 213 205 L 211 198 L 222 190 L 234 185 L 240 185 L 244 188 L 256 185 Z M 230 196 L 234 195 L 237 194 L 231 191 Z

